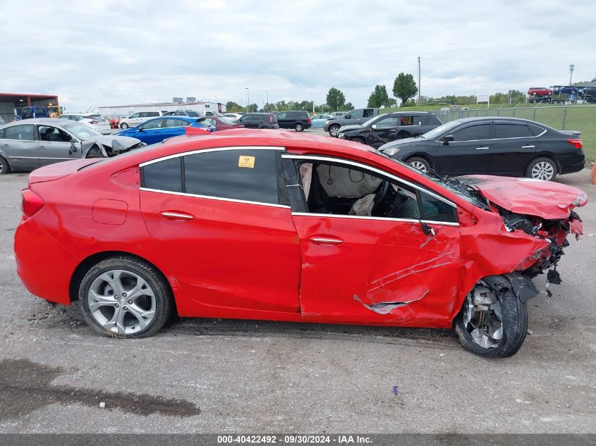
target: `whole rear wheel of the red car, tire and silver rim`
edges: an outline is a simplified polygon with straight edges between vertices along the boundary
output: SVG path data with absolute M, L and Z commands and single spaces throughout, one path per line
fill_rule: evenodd
M 129 256 L 104 259 L 90 268 L 79 287 L 87 325 L 109 337 L 148 337 L 168 320 L 174 297 L 150 264 Z

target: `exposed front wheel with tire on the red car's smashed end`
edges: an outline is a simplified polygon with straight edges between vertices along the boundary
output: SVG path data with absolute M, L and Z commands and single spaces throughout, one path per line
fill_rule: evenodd
M 488 300 L 492 303 L 486 304 Z M 484 308 L 488 309 L 479 311 Z M 470 352 L 488 358 L 511 357 L 528 332 L 528 309 L 511 290 L 494 292 L 476 285 L 454 325 L 461 345 Z

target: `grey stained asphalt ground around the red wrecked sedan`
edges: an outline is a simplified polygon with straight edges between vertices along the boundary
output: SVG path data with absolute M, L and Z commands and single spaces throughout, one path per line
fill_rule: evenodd
M 77 305 L 54 306 L 20 283 L 13 235 L 28 174 L 1 175 L 0 431 L 594 433 L 589 178 L 558 179 L 590 199 L 563 284 L 547 297 L 545 277 L 535 279 L 531 334 L 515 356 L 488 360 L 451 330 L 195 318 L 147 339 L 99 337 Z

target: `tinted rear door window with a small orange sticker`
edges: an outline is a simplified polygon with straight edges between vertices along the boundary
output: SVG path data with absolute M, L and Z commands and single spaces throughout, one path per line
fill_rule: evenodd
M 184 157 L 186 193 L 279 204 L 275 150 L 223 150 Z

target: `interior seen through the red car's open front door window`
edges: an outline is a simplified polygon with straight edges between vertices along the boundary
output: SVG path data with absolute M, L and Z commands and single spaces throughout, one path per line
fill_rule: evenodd
M 296 167 L 310 213 L 421 218 L 416 192 L 407 185 L 334 163 L 298 162 Z

